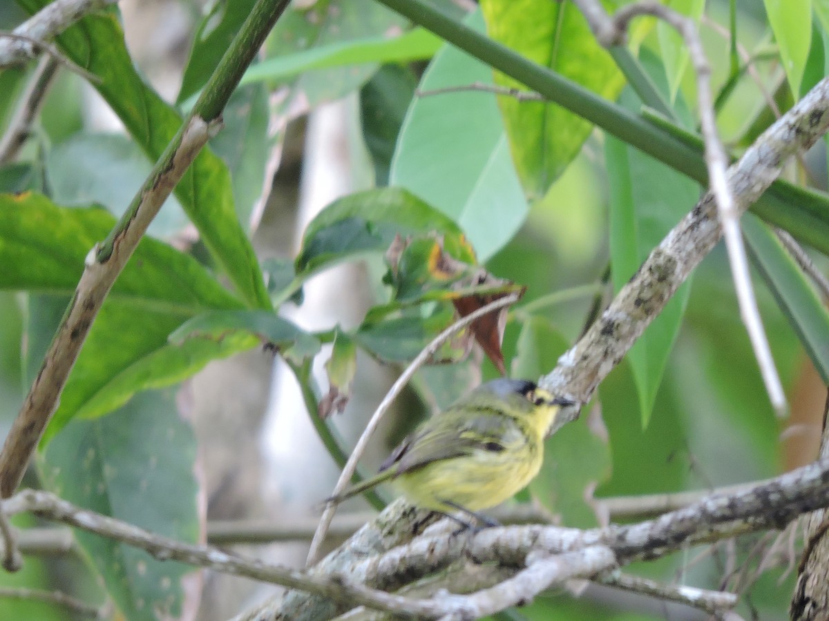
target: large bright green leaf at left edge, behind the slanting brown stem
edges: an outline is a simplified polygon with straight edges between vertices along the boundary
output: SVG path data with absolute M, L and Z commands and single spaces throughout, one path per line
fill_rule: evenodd
M 0 288 L 60 296 L 65 306 L 86 254 L 113 224 L 104 209 L 61 209 L 36 194 L 0 195 Z M 46 437 L 74 416 L 99 416 L 138 390 L 177 382 L 211 359 L 252 346 L 250 339 L 181 348 L 167 343 L 193 315 L 242 306 L 196 260 L 144 238 L 92 325 Z

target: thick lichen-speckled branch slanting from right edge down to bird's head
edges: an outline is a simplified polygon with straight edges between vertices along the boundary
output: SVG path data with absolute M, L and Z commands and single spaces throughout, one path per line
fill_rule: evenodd
M 788 156 L 804 151 L 829 128 L 829 79 L 823 79 L 768 128 L 728 171 L 739 212 L 759 198 Z M 633 278 L 587 333 L 559 359 L 541 385 L 589 401 L 595 388 L 628 352 L 681 282 L 714 248 L 721 229 L 713 195 L 706 194 L 654 248 Z

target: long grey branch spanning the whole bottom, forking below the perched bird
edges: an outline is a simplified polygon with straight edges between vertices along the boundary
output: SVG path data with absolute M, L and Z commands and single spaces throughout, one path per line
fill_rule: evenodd
M 419 537 L 380 557 L 366 556 L 363 546 L 359 560 L 352 562 L 350 570 L 341 565 L 337 575 L 308 574 L 212 546 L 176 542 L 127 522 L 76 507 L 42 491 L 25 490 L 0 503 L 0 509 L 8 515 L 31 512 L 47 520 L 94 532 L 148 551 L 161 561 L 182 561 L 305 590 L 340 602 L 341 610 L 364 604 L 395 614 L 435 618 L 469 610 L 482 614 L 493 612 L 499 603 L 503 606 L 506 605 L 504 602 L 531 597 L 551 582 L 575 575 L 589 577 L 617 563 L 626 565 L 642 558 L 664 556 L 710 537 L 729 537 L 735 530 L 730 525 L 734 524 L 749 531 L 782 526 L 801 513 L 827 504 L 829 458 L 751 489 L 714 494 L 691 507 L 631 526 L 591 531 L 552 526 L 497 527 L 467 538 L 441 532 L 432 537 Z M 395 508 L 390 507 L 388 511 L 394 512 Z M 527 569 L 507 580 L 509 584 L 500 583 L 469 596 L 436 595 L 429 599 L 410 599 L 367 586 L 383 585 L 384 589 L 392 589 L 398 583 L 409 584 L 464 555 L 478 563 L 526 564 Z M 348 576 L 348 580 L 339 576 Z

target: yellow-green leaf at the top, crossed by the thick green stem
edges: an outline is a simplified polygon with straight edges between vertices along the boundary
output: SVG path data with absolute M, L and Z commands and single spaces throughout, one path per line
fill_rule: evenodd
M 539 65 L 615 99 L 624 79 L 579 9 L 572 2 L 482 0 L 487 33 Z M 509 89 L 526 86 L 500 72 L 495 82 Z M 512 159 L 526 194 L 541 198 L 573 161 L 593 125 L 555 103 L 498 98 Z

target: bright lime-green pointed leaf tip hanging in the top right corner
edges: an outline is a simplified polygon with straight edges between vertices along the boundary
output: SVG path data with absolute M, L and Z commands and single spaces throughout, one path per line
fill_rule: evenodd
M 780 48 L 783 70 L 797 99 L 812 42 L 812 0 L 764 0 L 764 4 Z

